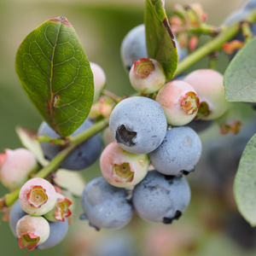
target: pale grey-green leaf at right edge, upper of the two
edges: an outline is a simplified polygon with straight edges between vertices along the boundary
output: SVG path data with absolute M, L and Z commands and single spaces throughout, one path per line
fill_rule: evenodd
M 256 38 L 238 51 L 224 73 L 228 102 L 256 102 Z

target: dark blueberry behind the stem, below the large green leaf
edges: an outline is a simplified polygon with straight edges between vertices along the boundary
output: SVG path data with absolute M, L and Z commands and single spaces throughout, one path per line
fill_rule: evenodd
M 80 132 L 89 129 L 93 123 L 89 119 L 85 119 L 84 123 L 73 132 L 71 136 L 77 135 Z M 49 125 L 45 122 L 40 125 L 38 130 L 38 136 L 46 135 L 48 137 L 60 137 L 55 131 L 53 131 Z M 50 143 L 41 143 L 41 147 L 44 151 L 44 156 L 48 160 L 52 160 L 56 154 L 61 151 L 60 146 L 51 145 Z M 94 137 L 90 137 L 87 141 L 80 144 L 77 148 L 67 155 L 67 158 L 61 162 L 61 168 L 67 170 L 80 171 L 84 168 L 92 165 L 102 152 L 102 140 L 101 137 L 96 134 Z

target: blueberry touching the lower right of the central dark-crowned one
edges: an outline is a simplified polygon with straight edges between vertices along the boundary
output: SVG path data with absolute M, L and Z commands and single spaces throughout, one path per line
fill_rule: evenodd
M 190 127 L 173 127 L 149 159 L 154 168 L 166 175 L 195 166 L 201 156 L 201 139 Z

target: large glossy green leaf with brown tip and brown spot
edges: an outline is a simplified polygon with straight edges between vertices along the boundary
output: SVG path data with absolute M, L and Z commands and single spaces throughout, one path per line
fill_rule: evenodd
M 93 101 L 93 74 L 65 17 L 47 20 L 33 30 L 20 44 L 15 66 L 26 95 L 61 137 L 84 122 Z

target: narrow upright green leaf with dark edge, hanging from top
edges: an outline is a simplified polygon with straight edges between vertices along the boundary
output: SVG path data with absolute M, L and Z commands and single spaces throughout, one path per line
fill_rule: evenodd
M 145 27 L 148 57 L 160 62 L 170 80 L 177 69 L 177 49 L 164 0 L 146 0 Z

